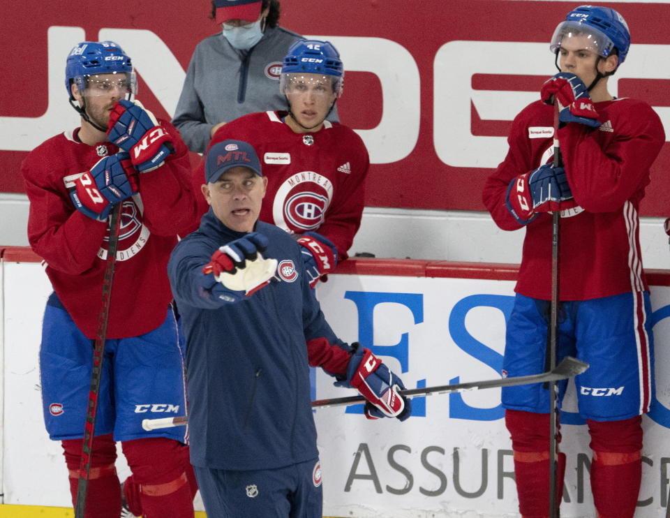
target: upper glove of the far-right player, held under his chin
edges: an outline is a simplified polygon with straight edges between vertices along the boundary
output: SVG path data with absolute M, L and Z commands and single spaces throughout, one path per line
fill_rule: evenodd
M 591 128 L 600 126 L 598 112 L 578 76 L 569 72 L 559 72 L 542 84 L 540 98 L 546 104 L 558 102 L 558 121 L 563 124 L 576 122 Z

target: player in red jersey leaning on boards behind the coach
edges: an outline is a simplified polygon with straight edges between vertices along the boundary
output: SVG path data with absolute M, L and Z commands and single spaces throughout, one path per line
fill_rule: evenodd
M 299 235 L 311 286 L 347 258 L 363 213 L 368 152 L 350 128 L 326 120 L 342 95 L 343 77 L 331 43 L 299 40 L 283 60 L 279 81 L 288 111 L 239 117 L 209 143 L 244 140 L 258 152 L 268 182 L 260 221 Z M 194 182 L 200 191 L 204 161 Z M 207 203 L 198 200 L 202 216 Z

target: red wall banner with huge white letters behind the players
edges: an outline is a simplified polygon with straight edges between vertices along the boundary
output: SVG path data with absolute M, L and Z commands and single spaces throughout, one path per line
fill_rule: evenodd
M 632 47 L 609 80 L 641 98 L 670 135 L 667 3 L 612 3 Z M 549 39 L 576 3 L 505 0 L 306 0 L 281 3 L 281 25 L 335 43 L 345 66 L 341 120 L 371 156 L 368 207 L 483 210 L 484 179 L 507 152 L 514 116 L 556 73 Z M 28 151 L 78 124 L 65 58 L 81 40 L 116 40 L 140 77 L 138 98 L 170 118 L 193 49 L 220 27 L 210 2 L 117 0 L 104 9 L 65 0 L 3 2 L 0 193 L 24 192 Z M 30 34 L 27 38 L 27 34 Z M 670 138 L 670 137 L 669 137 Z M 194 156 L 194 160 L 198 157 Z M 643 216 L 667 216 L 670 147 L 652 169 Z M 411 175 L 408 175 L 408 172 Z

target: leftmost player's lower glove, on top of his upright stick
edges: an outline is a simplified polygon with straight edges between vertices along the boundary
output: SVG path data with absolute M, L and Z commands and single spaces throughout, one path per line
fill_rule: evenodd
M 89 218 L 104 221 L 117 203 L 138 191 L 137 172 L 128 153 L 101 158 L 75 180 L 70 199 Z

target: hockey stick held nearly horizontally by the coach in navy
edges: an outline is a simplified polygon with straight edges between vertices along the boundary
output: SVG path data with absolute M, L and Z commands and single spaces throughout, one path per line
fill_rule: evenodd
M 551 380 L 564 380 L 583 373 L 588 369 L 588 363 L 567 356 L 554 369 L 539 374 L 528 376 L 514 376 L 513 378 L 496 378 L 494 380 L 471 381 L 468 383 L 456 383 L 454 385 L 439 385 L 437 387 L 422 387 L 416 389 L 401 390 L 403 397 L 420 397 L 431 394 L 448 394 L 449 392 L 465 392 L 466 390 L 480 390 L 487 388 L 512 387 L 513 385 L 528 385 L 528 383 L 545 383 Z M 326 408 L 328 406 L 345 406 L 365 403 L 362 396 L 338 397 L 334 399 L 317 399 L 312 401 L 312 408 Z M 187 416 L 165 417 L 163 419 L 145 419 L 142 428 L 153 430 L 156 428 L 178 427 L 188 423 Z

